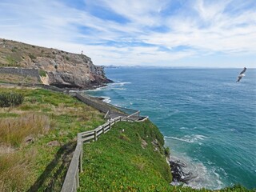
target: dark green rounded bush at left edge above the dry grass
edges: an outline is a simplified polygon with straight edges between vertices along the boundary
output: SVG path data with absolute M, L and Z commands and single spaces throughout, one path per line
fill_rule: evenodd
M 18 106 L 22 104 L 24 97 L 17 93 L 0 94 L 0 107 Z

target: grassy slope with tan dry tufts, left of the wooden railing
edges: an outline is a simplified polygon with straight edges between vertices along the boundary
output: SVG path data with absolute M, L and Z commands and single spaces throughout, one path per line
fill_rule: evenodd
M 0 108 L 0 191 L 59 191 L 78 132 L 104 121 L 97 110 L 49 90 L 20 93 L 20 106 Z

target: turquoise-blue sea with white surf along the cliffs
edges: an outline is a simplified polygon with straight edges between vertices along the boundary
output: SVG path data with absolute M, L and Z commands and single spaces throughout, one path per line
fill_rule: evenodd
M 256 187 L 256 70 L 110 68 L 114 83 L 89 91 L 141 110 L 165 137 L 171 157 L 198 174 L 188 185 Z

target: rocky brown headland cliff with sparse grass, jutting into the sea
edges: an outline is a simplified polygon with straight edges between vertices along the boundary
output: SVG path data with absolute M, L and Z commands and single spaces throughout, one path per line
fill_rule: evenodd
M 90 89 L 111 82 L 102 66 L 94 66 L 84 54 L 31 46 L 0 38 L 0 67 L 11 66 L 46 71 L 42 82 L 58 87 Z

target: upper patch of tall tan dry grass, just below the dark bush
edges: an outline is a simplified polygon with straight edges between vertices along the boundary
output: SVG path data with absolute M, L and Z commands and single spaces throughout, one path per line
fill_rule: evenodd
M 35 137 L 50 129 L 46 115 L 22 114 L 16 118 L 0 118 L 0 144 L 18 147 L 27 136 Z

